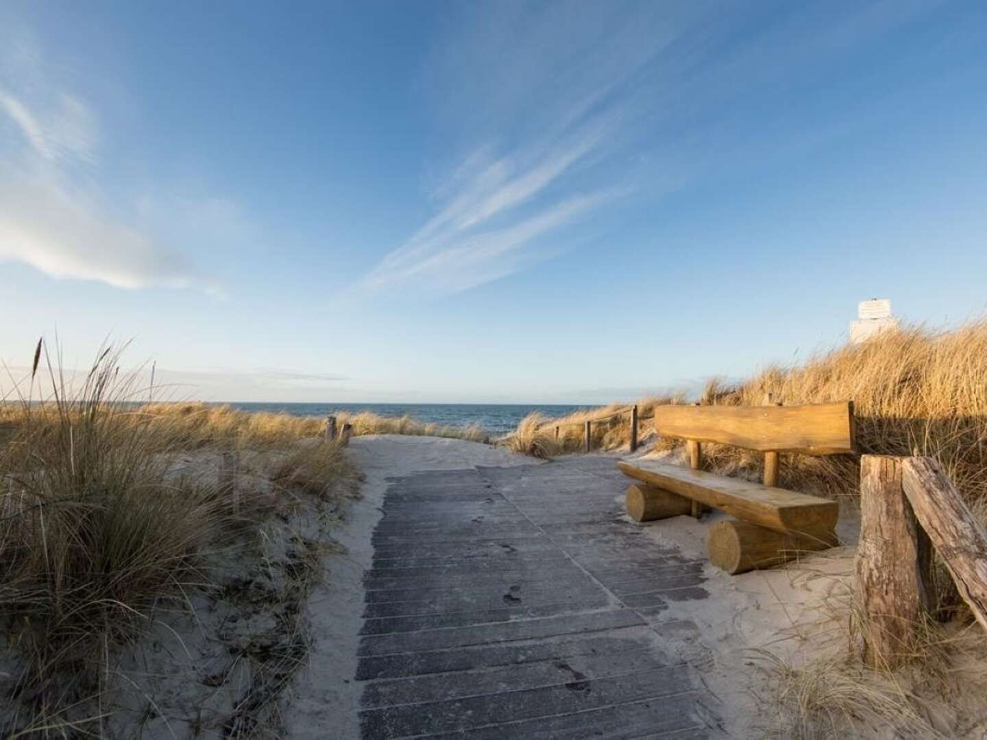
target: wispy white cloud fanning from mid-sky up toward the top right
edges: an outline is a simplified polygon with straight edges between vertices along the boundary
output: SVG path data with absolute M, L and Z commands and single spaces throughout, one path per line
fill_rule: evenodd
M 912 5 L 780 7 L 756 27 L 705 0 L 458 6 L 417 89 L 442 142 L 432 212 L 357 289 L 475 287 L 558 254 L 629 195 L 811 146 L 832 123 L 785 129 L 778 90 Z

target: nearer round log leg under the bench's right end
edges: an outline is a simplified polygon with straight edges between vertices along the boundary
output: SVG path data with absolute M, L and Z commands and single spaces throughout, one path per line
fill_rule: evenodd
M 826 550 L 836 544 L 833 532 L 783 535 L 741 521 L 721 522 L 711 527 L 706 539 L 710 562 L 730 575 L 781 565 L 802 553 Z

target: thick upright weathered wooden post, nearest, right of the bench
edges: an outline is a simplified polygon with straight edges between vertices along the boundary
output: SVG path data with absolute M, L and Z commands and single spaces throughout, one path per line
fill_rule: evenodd
M 854 562 L 866 616 L 864 660 L 891 667 L 932 606 L 931 554 L 902 488 L 903 458 L 861 458 L 861 535 Z

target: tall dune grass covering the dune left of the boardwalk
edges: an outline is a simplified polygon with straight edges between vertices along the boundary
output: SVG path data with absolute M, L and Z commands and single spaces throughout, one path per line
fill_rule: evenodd
M 234 500 L 215 468 L 208 480 L 177 473 L 180 455 L 280 450 L 270 479 L 285 505 L 293 490 L 351 490 L 357 475 L 339 444 L 298 449 L 321 430 L 310 419 L 135 405 L 144 394 L 120 372 L 121 351 L 102 349 L 73 384 L 39 343 L 27 394 L 3 407 L 0 657 L 17 666 L 9 697 L 30 716 L 11 712 L 0 733 L 94 731 L 102 716 L 78 714 L 109 688 L 112 656 L 156 613 L 190 610 L 190 594 L 213 588 L 207 555 L 277 508 L 250 489 Z

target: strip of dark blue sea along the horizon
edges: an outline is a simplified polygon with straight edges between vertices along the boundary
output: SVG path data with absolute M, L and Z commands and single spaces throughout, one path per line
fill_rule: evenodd
M 381 416 L 411 416 L 424 423 L 447 426 L 476 424 L 491 434 L 500 435 L 512 431 L 517 422 L 532 411 L 546 416 L 564 416 L 588 406 L 532 406 L 512 404 L 248 404 L 231 403 L 228 406 L 245 411 L 280 411 L 296 416 L 326 416 L 333 411 L 371 411 Z

